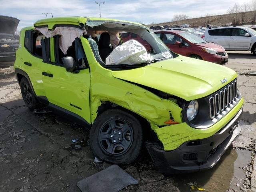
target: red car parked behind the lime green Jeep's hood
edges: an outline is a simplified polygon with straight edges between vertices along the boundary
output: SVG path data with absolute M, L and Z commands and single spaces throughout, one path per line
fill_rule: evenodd
M 154 32 L 173 52 L 218 64 L 228 63 L 228 54 L 217 44 L 184 31 Z

